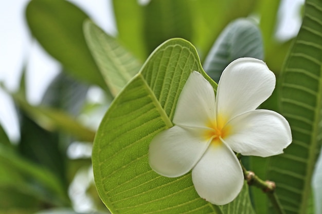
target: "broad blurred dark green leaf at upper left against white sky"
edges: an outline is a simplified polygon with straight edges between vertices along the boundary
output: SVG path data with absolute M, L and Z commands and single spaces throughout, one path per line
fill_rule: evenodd
M 68 1 L 32 0 L 26 18 L 33 36 L 71 75 L 106 89 L 85 42 L 83 11 Z

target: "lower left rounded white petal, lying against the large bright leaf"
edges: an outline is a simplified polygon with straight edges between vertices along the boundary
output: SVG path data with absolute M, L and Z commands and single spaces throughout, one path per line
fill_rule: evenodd
M 200 160 L 211 139 L 204 130 L 173 126 L 153 138 L 149 148 L 151 168 L 166 177 L 179 177 L 187 173 Z

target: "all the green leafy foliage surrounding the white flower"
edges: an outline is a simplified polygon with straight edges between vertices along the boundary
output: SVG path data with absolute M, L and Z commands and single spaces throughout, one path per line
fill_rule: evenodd
M 26 99 L 24 75 L 20 89 L 8 92 L 21 139 L 13 144 L 0 126 L 0 214 L 78 213 L 71 186 L 92 167 L 95 183 L 84 191 L 95 213 L 321 213 L 322 2 L 306 1 L 298 35 L 284 42 L 275 38 L 278 0 L 112 2 L 116 36 L 65 0 L 28 3 L 30 32 L 62 72 L 38 106 Z M 190 172 L 166 178 L 148 163 L 149 143 L 173 126 L 190 72 L 216 91 L 223 69 L 239 57 L 261 59 L 274 71 L 278 84 L 261 108 L 291 125 L 293 142 L 283 154 L 241 158 L 276 183 L 278 212 L 247 182 L 234 201 L 217 206 L 198 196 Z M 99 104 L 86 99 L 93 87 L 104 94 Z M 93 115 L 98 128 L 82 120 Z M 92 157 L 68 155 L 88 143 Z

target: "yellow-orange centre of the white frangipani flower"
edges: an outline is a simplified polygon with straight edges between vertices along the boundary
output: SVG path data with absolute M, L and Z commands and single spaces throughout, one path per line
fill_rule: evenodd
M 212 139 L 211 143 L 221 144 L 221 139 L 225 139 L 230 132 L 230 126 L 226 124 L 227 120 L 223 117 L 219 117 L 217 121 L 211 121 L 207 124 L 210 128 L 206 131 L 207 140 Z

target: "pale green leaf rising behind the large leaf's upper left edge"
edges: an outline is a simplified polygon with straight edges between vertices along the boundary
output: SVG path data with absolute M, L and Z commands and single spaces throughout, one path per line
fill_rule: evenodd
M 139 71 L 141 64 L 115 38 L 91 21 L 84 23 L 84 33 L 106 84 L 112 95 L 116 96 Z

